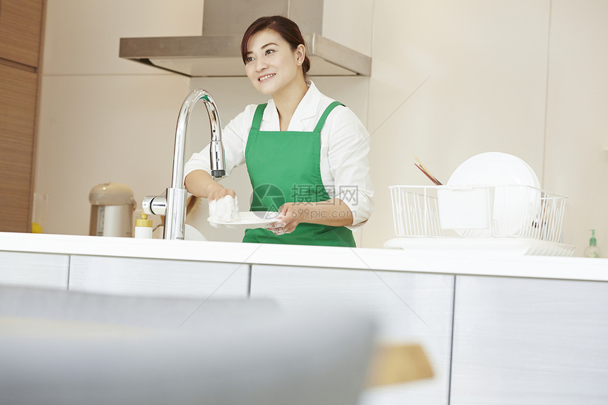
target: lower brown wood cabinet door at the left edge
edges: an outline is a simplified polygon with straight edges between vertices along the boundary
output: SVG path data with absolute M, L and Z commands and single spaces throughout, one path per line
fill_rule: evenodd
M 30 230 L 36 89 L 35 73 L 0 64 L 0 232 Z

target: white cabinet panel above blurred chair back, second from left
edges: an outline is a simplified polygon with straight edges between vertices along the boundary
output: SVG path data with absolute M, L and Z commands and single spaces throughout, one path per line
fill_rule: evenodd
M 73 255 L 69 289 L 92 293 L 245 298 L 247 264 Z

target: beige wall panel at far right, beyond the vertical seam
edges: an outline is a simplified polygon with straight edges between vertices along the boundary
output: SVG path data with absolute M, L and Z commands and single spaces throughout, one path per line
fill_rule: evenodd
M 566 194 L 563 238 L 608 257 L 608 2 L 554 0 L 546 102 L 544 183 Z

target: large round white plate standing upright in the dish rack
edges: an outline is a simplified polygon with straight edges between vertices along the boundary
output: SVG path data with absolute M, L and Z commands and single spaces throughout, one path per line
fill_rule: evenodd
M 508 153 L 474 155 L 454 170 L 448 186 L 493 186 L 491 228 L 469 234 L 474 237 L 517 236 L 534 221 L 540 204 L 540 182 L 534 170 Z

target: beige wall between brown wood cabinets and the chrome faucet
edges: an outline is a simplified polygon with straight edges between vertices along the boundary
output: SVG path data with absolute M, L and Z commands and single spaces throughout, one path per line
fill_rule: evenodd
M 49 196 L 45 233 L 87 235 L 95 184 L 128 184 L 137 201 L 168 187 L 189 83 L 119 59 L 119 38 L 198 35 L 201 14 L 198 0 L 47 1 L 35 185 Z

